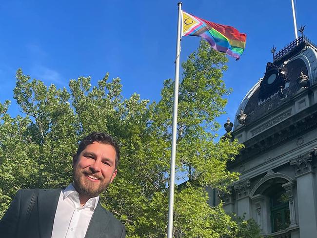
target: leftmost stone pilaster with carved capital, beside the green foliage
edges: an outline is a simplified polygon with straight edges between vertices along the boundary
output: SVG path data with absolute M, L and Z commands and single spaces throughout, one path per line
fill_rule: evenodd
M 238 201 L 238 216 L 245 215 L 245 219 L 250 219 L 252 217 L 251 201 L 249 197 L 250 185 L 250 179 L 246 179 L 234 186 Z

